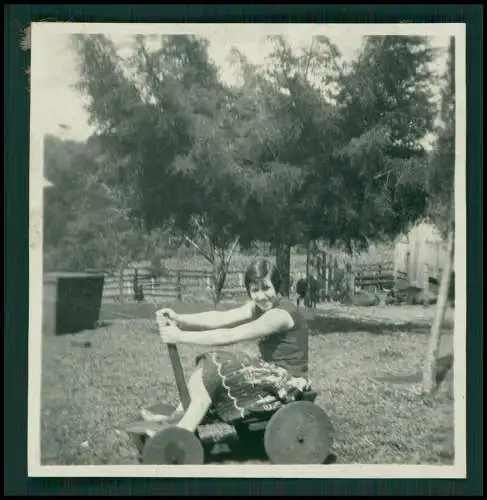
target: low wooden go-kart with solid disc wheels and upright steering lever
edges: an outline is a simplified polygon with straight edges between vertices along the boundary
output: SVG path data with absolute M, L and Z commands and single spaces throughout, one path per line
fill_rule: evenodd
M 166 344 L 184 408 L 189 405 L 176 345 Z M 152 465 L 202 465 L 215 445 L 226 445 L 240 457 L 262 450 L 273 464 L 323 464 L 333 444 L 333 426 L 314 401 L 316 392 L 302 392 L 290 403 L 258 408 L 235 425 L 223 422 L 210 410 L 195 433 L 175 425 L 142 419 L 126 427 L 139 462 Z M 149 411 L 168 415 L 175 408 L 158 404 Z

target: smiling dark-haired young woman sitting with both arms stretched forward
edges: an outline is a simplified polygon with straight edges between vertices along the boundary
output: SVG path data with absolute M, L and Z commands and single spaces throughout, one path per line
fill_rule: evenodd
M 228 311 L 177 314 L 157 311 L 162 340 L 219 348 L 256 341 L 260 356 L 212 349 L 198 356 L 188 382 L 190 405 L 174 414 L 154 415 L 194 432 L 211 409 L 225 422 L 235 423 L 255 409 L 278 408 L 296 394 L 310 390 L 308 329 L 296 306 L 279 293 L 281 276 L 268 260 L 252 263 L 245 272 L 249 301 Z

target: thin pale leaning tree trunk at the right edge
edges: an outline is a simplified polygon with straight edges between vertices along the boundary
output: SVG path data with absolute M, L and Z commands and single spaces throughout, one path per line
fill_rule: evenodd
M 450 288 L 451 271 L 453 268 L 453 239 L 454 231 L 450 230 L 448 234 L 447 259 L 445 268 L 441 275 L 440 289 L 438 291 L 438 301 L 436 304 L 436 314 L 431 325 L 428 351 L 423 368 L 423 391 L 430 393 L 436 388 L 436 357 L 441 338 L 441 325 L 445 317 L 446 307 L 448 305 L 448 290 Z

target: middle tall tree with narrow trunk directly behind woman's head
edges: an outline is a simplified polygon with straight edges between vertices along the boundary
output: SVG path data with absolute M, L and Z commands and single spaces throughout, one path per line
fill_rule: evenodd
M 240 116 L 239 161 L 254 172 L 248 236 L 274 247 L 282 292 L 288 294 L 290 249 L 303 239 L 316 180 L 312 166 L 320 152 L 323 157 L 331 151 L 337 135 L 329 86 L 340 62 L 326 37 L 313 37 L 298 51 L 280 36 L 270 42 L 271 53 L 261 67 L 235 54 L 244 81 L 239 105 L 249 115 Z

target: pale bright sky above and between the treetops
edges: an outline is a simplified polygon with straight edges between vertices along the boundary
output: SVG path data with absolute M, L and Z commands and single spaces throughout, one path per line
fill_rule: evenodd
M 52 24 L 57 24 L 59 27 L 70 23 Z M 199 34 L 209 40 L 209 56 L 219 67 L 221 77 L 227 82 L 234 82 L 236 74 L 229 62 L 231 48 L 238 48 L 253 63 L 263 63 L 269 53 L 269 45 L 266 43 L 265 37 L 271 33 L 269 29 L 266 30 L 263 27 L 268 28 L 269 26 L 271 25 L 237 24 L 232 26 L 223 25 L 223 28 L 222 25 L 209 25 L 203 30 L 201 26 L 198 28 Z M 356 26 L 362 25 L 352 27 L 350 25 L 338 25 L 338 27 L 337 25 L 328 25 L 326 27 L 325 25 L 325 29 L 321 30 L 321 34 L 329 36 L 331 41 L 337 45 L 343 57 L 350 61 L 355 58 L 363 41 L 364 30 L 360 30 Z M 124 40 L 126 40 L 129 32 L 135 34 L 133 30 L 134 26 L 129 25 L 126 29 L 117 29 L 111 33 L 105 30 L 105 32 L 111 36 L 118 46 L 123 47 Z M 77 31 L 83 30 L 79 29 Z M 181 31 L 179 29 L 176 32 Z M 71 32 L 72 30 L 69 33 Z M 277 31 L 274 29 L 273 32 Z M 311 36 L 316 33 L 316 28 L 315 31 L 312 31 L 310 25 L 287 24 L 279 25 L 278 32 L 284 34 L 293 47 L 309 47 Z M 391 32 L 394 32 L 394 30 Z M 88 125 L 88 115 L 83 107 L 85 99 L 73 88 L 73 85 L 77 82 L 78 74 L 75 55 L 69 44 L 69 33 L 53 29 L 47 32 L 44 31 L 42 38 L 38 38 L 37 48 L 33 45 L 33 50 L 37 50 L 38 64 L 36 68 L 38 69 L 32 74 L 32 78 L 33 82 L 35 81 L 37 109 L 40 110 L 42 107 L 42 128 L 44 133 L 66 139 L 85 140 L 93 132 L 93 128 Z M 152 30 L 152 33 L 154 33 L 154 30 Z M 435 33 L 431 39 L 432 45 L 446 50 L 448 36 L 448 32 Z M 36 43 L 35 40 L 33 38 L 33 44 Z M 39 61 L 41 61 L 40 64 Z M 442 72 L 444 64 L 445 57 L 439 57 L 437 71 Z

